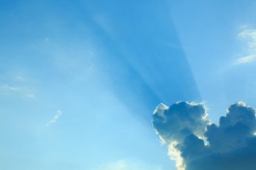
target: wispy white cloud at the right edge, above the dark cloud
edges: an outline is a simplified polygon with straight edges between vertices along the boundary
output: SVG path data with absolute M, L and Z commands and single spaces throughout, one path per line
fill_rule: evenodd
M 253 62 L 256 59 L 256 29 L 252 26 L 242 26 L 238 39 L 245 43 L 245 57 L 235 60 L 235 64 Z

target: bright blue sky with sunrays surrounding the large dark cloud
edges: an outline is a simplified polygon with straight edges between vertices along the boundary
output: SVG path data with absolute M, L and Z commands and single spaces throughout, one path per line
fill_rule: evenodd
M 1 1 L 1 169 L 176 169 L 153 111 L 256 107 L 255 7 Z

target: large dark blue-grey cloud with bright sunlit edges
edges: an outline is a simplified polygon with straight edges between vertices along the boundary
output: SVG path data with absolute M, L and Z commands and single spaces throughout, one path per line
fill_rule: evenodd
M 245 103 L 232 104 L 220 125 L 206 119 L 202 104 L 160 104 L 153 127 L 169 147 L 179 170 L 252 170 L 256 166 L 255 109 Z

